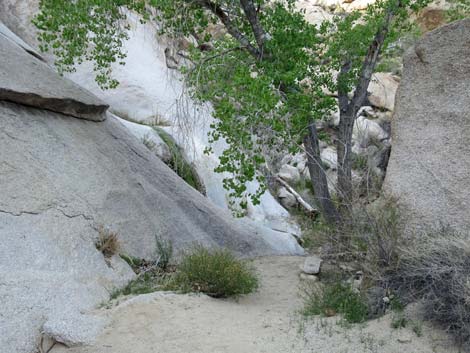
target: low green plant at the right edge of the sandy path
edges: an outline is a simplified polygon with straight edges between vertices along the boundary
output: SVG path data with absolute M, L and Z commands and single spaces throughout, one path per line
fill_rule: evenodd
M 312 286 L 306 291 L 303 315 L 334 316 L 342 314 L 348 323 L 360 323 L 367 319 L 367 305 L 359 293 L 342 282 Z

